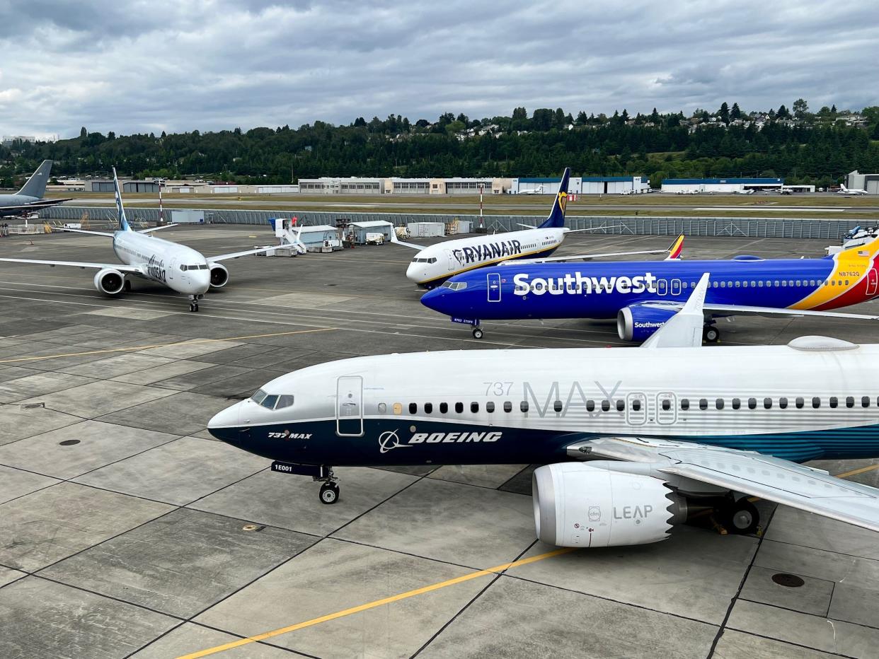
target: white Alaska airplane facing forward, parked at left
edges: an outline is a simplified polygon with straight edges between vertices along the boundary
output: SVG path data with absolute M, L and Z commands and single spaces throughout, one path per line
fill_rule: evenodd
M 134 231 L 125 216 L 125 208 L 122 206 L 119 179 L 116 177 L 116 169 L 113 168 L 113 186 L 116 191 L 116 209 L 119 212 L 120 230 L 111 233 L 103 231 L 86 231 L 77 228 L 62 228 L 62 231 L 72 231 L 78 234 L 105 235 L 113 238 L 113 251 L 119 257 L 122 264 L 84 263 L 80 261 L 46 261 L 32 258 L 0 258 L 0 261 L 11 263 L 32 263 L 43 265 L 70 265 L 76 268 L 92 268 L 97 270 L 95 275 L 95 288 L 100 293 L 115 297 L 130 290 L 131 284 L 128 277 L 142 277 L 151 279 L 163 286 L 168 286 L 176 293 L 189 296 L 189 310 L 199 310 L 199 300 L 204 297 L 209 288 L 222 288 L 229 283 L 229 271 L 220 262 L 229 258 L 258 254 L 265 250 L 272 250 L 274 246 L 263 247 L 257 250 L 237 251 L 231 254 L 221 254 L 216 257 L 204 257 L 199 251 L 191 247 L 171 243 L 171 241 L 149 235 L 160 228 L 174 227 L 174 224 L 166 224 L 162 227 Z

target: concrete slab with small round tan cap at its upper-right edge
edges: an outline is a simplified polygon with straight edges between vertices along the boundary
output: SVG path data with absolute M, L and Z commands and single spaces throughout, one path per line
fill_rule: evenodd
M 179 509 L 40 571 L 40 576 L 189 618 L 314 544 L 315 538 Z

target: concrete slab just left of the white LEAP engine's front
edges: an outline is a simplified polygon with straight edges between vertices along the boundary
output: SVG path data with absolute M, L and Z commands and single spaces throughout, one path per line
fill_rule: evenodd
M 471 486 L 425 478 L 334 535 L 476 568 L 514 560 L 534 542 L 531 498 L 478 491 L 474 505 Z

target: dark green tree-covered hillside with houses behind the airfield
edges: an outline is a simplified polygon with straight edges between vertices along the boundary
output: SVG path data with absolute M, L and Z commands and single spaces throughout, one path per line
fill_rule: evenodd
M 316 121 L 299 128 L 217 133 L 89 133 L 54 143 L 0 147 L 0 185 L 11 186 L 53 158 L 54 176 L 105 176 L 111 165 L 136 177 L 200 175 L 241 183 L 287 183 L 300 177 L 548 176 L 784 177 L 789 183 L 836 183 L 851 170 L 879 171 L 879 107 L 822 108 L 803 99 L 792 111 L 607 117 L 561 108 L 525 108 L 510 117 L 469 119 L 449 112 L 435 122 L 358 118 L 348 126 Z

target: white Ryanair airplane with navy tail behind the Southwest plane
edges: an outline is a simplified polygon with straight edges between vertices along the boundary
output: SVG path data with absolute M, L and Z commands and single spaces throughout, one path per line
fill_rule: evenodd
M 476 235 L 469 238 L 437 243 L 427 247 L 413 243 L 403 243 L 391 231 L 390 242 L 413 250 L 419 250 L 406 269 L 406 277 L 422 288 L 439 286 L 449 277 L 468 272 L 486 265 L 497 265 L 509 260 L 519 263 L 535 261 L 570 261 L 588 258 L 621 256 L 620 254 L 581 254 L 574 257 L 547 258 L 562 244 L 564 236 L 578 231 L 598 231 L 600 228 L 570 229 L 564 226 L 564 209 L 568 201 L 568 179 L 570 167 L 565 168 L 558 186 L 556 199 L 548 218 L 539 227 L 527 224 L 524 231 L 511 231 L 505 234 Z M 661 254 L 665 250 L 635 251 L 627 254 Z

